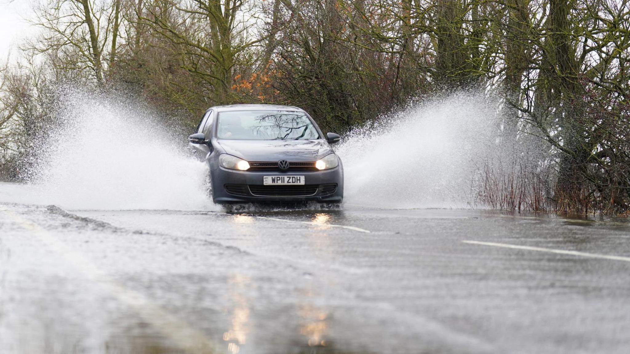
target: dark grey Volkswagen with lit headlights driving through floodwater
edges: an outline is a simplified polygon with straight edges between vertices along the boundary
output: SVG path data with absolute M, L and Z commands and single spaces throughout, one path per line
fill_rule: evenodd
M 312 118 L 297 107 L 215 106 L 188 140 L 207 161 L 215 203 L 341 203 L 343 165 Z

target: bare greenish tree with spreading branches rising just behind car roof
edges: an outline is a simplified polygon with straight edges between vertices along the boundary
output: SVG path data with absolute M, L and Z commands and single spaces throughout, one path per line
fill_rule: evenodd
M 234 67 L 261 42 L 249 38 L 255 18 L 246 0 L 146 1 L 139 20 L 161 45 L 177 52 L 181 66 L 213 94 L 214 103 L 232 101 Z

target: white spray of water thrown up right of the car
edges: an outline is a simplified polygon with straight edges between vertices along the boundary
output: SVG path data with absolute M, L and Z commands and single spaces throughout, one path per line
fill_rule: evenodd
M 497 149 L 498 103 L 483 93 L 433 98 L 358 129 L 336 149 L 345 202 L 386 208 L 471 207 L 474 179 Z

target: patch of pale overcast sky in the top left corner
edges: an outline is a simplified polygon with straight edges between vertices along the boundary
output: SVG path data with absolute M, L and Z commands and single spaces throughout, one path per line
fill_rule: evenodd
M 25 18 L 31 18 L 31 0 L 0 0 L 0 62 L 6 60 L 9 49 L 19 45 L 37 28 L 30 26 Z

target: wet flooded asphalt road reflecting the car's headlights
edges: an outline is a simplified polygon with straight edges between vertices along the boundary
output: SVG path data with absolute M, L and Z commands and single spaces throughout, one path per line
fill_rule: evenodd
M 19 188 L 0 185 L 0 353 L 630 350 L 624 222 L 64 210 Z

